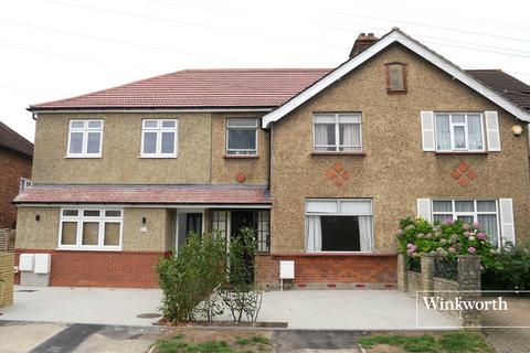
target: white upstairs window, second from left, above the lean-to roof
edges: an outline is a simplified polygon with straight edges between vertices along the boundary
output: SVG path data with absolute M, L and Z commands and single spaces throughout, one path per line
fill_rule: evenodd
M 141 157 L 176 158 L 178 146 L 177 119 L 146 119 L 141 121 Z

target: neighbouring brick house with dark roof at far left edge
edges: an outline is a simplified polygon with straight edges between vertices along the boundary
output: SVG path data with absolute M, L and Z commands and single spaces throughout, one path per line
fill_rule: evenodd
M 0 121 L 0 228 L 14 229 L 17 206 L 11 202 L 31 185 L 33 145 Z

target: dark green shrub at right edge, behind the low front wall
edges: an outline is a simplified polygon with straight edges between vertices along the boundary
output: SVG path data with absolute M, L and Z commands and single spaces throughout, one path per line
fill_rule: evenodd
M 530 243 L 507 244 L 494 256 L 492 266 L 483 274 L 483 288 L 530 289 Z

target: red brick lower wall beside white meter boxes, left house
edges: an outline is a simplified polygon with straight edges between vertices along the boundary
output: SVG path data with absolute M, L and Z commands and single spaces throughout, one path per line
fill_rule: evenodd
M 65 252 L 17 249 L 21 253 L 52 254 L 51 286 L 157 288 L 152 267 L 163 253 L 157 252 Z

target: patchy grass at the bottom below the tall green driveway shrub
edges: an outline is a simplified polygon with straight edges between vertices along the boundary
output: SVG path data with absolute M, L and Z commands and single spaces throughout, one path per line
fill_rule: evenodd
M 240 350 L 239 346 L 244 349 Z M 233 344 L 229 344 L 226 341 L 187 343 L 182 334 L 157 342 L 159 353 L 253 353 L 266 352 L 268 347 L 268 339 L 262 335 L 237 338 Z

